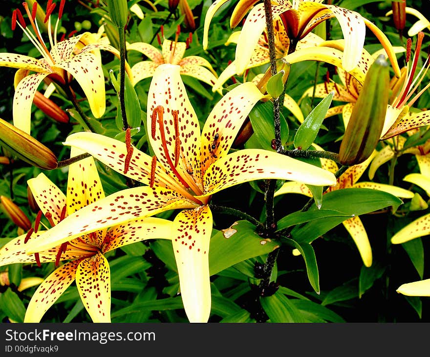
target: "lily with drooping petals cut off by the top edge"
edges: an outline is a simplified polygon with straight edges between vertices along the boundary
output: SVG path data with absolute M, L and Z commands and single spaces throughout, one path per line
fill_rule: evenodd
M 215 12 L 227 1 L 216 0 L 208 9 L 204 23 L 204 49 L 208 46 L 210 22 Z M 264 4 L 255 5 L 257 2 L 258 0 L 239 0 L 230 20 L 231 27 L 236 27 L 248 10 L 252 8 L 243 24 L 236 48 L 237 74 L 243 73 L 252 51 L 258 43 L 258 38 L 266 26 Z M 272 0 L 273 19 L 279 17 L 285 25 L 290 41 L 297 43 L 319 23 L 336 17 L 344 34 L 345 50 L 342 67 L 347 71 L 352 70 L 360 60 L 366 26 L 376 35 L 384 47 L 389 44 L 383 32 L 357 12 L 321 2 L 322 0 L 294 0 L 292 2 L 289 0 Z

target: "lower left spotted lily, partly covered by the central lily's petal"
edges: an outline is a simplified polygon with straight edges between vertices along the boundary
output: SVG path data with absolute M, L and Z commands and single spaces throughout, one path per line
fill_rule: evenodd
M 72 149 L 72 156 L 73 152 L 76 153 L 77 150 Z M 54 227 L 68 215 L 104 197 L 92 157 L 69 166 L 67 195 L 44 174 L 28 180 L 28 185 L 41 208 L 41 214 L 43 213 Z M 117 224 L 110 229 L 100 229 L 89 234 L 82 233 L 60 245 L 51 245 L 47 249 L 39 248 L 39 243 L 43 243 L 39 237 L 43 231 L 38 229 L 42 224 L 41 214 L 36 219 L 34 228 L 0 249 L 0 266 L 55 262 L 58 267 L 34 293 L 24 322 L 39 322 L 74 280 L 91 319 L 94 322 L 110 322 L 110 270 L 104 254 L 123 245 L 149 238 L 170 238 L 170 221 L 149 218 Z M 85 230 L 85 227 L 81 225 L 81 229 Z M 26 245 L 30 243 L 36 249 L 33 255 L 27 255 L 25 252 Z M 59 266 L 59 262 L 64 260 L 68 262 Z

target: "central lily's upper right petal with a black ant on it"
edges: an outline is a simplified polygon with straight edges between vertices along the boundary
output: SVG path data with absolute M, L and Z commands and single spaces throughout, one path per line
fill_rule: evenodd
M 216 103 L 208 116 L 201 134 L 201 171 L 204 173 L 215 156 L 227 155 L 243 122 L 254 105 L 263 97 L 257 87 L 251 83 L 243 83 Z M 212 150 L 215 134 L 218 134 Z M 215 155 L 215 156 L 214 156 Z

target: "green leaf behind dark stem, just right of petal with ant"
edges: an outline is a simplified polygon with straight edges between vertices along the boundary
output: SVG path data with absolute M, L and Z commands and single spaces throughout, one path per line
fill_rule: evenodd
M 249 119 L 261 148 L 274 151 L 272 148 L 272 140 L 275 138 L 273 103 L 258 102 L 249 113 Z M 288 125 L 282 114 L 280 114 L 280 134 L 281 142 L 285 143 L 288 140 Z

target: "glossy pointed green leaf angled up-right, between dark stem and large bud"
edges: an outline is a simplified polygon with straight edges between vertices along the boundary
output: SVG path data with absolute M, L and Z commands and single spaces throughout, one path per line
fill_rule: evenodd
M 312 145 L 323 124 L 325 114 L 330 107 L 334 92 L 329 93 L 304 119 L 294 135 L 294 147 L 306 150 Z

